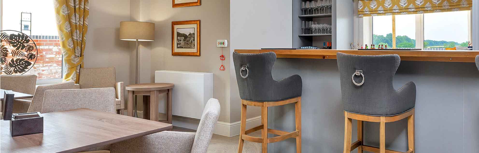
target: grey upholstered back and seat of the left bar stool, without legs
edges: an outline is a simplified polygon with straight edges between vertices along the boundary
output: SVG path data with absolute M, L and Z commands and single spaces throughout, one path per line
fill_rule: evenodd
M 279 101 L 301 96 L 301 77 L 293 75 L 276 81 L 271 75 L 276 54 L 233 53 L 239 97 L 251 101 Z M 280 83 L 281 82 L 281 83 Z

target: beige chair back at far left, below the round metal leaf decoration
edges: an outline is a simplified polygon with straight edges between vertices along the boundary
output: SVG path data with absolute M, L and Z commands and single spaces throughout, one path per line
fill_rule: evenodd
M 0 88 L 33 95 L 36 75 L 0 75 Z

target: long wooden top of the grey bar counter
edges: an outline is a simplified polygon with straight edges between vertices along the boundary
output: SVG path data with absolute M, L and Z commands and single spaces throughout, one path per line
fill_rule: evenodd
M 479 51 L 365 51 L 336 49 L 298 49 L 298 50 L 266 50 L 266 49 L 235 49 L 238 53 L 257 54 L 274 52 L 278 58 L 321 58 L 336 59 L 336 53 L 352 55 L 388 55 L 397 54 L 403 61 L 433 61 L 433 62 L 474 62 Z

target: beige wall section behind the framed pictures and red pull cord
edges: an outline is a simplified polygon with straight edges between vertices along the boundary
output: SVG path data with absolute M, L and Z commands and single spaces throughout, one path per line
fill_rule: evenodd
M 143 0 L 142 0 L 143 3 Z M 171 0 L 150 0 L 149 19 L 155 23 L 155 41 L 151 43 L 150 79 L 154 71 L 177 70 L 211 72 L 214 74 L 214 94 L 221 104 L 219 121 L 229 122 L 229 58 L 223 62 L 226 71 L 219 71 L 221 48 L 217 39 L 229 40 L 229 0 L 202 0 L 201 6 L 172 8 Z M 140 10 L 147 8 L 140 8 Z M 143 14 L 141 15 L 143 18 Z M 201 20 L 201 56 L 171 55 L 171 22 Z M 228 57 L 229 47 L 223 48 Z M 143 75 L 143 74 L 142 74 Z

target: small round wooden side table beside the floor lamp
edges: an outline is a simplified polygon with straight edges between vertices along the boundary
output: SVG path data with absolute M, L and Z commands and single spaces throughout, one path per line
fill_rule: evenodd
M 140 83 L 126 86 L 125 89 L 128 91 L 128 116 L 133 116 L 133 96 L 140 95 L 143 96 L 144 119 L 171 124 L 171 90 L 174 86 L 171 83 Z M 162 93 L 168 93 L 167 120 L 158 119 L 158 95 Z

